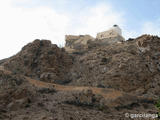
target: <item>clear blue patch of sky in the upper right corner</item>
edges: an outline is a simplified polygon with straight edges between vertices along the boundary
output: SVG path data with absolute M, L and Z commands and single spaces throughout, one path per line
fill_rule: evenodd
M 159 0 L 112 0 L 117 10 L 124 11 L 127 26 L 138 30 L 146 21 L 155 21 L 160 17 Z

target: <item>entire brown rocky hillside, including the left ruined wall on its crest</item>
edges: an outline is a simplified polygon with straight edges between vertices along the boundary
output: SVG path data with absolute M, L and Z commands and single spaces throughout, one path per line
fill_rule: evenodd
M 67 36 L 64 48 L 35 40 L 1 60 L 0 119 L 129 120 L 125 113 L 158 114 L 160 38 L 116 39 Z

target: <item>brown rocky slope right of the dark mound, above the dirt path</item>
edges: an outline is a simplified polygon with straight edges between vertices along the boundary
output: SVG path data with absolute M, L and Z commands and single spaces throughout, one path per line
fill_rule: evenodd
M 142 52 L 137 44 L 139 41 L 150 49 Z M 143 88 L 145 91 L 155 79 L 158 81 L 159 41 L 156 36 L 145 35 L 132 41 L 95 47 L 75 58 L 69 73 L 70 84 L 126 92 Z

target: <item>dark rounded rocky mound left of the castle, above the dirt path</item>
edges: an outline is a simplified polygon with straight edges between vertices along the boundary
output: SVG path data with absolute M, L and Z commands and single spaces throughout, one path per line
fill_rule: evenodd
M 16 74 L 62 84 L 68 82 L 65 74 L 71 64 L 72 58 L 63 49 L 47 40 L 35 40 L 2 65 Z

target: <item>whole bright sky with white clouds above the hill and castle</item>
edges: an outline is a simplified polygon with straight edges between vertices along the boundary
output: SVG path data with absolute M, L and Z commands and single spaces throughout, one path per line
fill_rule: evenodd
M 64 45 L 66 34 L 122 28 L 123 36 L 160 36 L 160 0 L 1 0 L 0 59 L 34 39 Z

